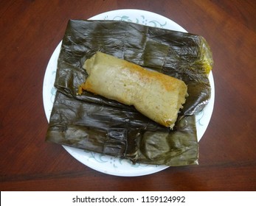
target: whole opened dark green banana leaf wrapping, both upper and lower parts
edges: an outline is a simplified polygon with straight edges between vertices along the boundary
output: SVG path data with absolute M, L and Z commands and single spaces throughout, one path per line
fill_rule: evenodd
M 83 63 L 96 51 L 182 79 L 189 96 L 170 130 L 134 107 L 77 88 Z M 63 37 L 55 78 L 57 93 L 46 140 L 134 163 L 181 166 L 198 163 L 195 115 L 210 99 L 212 54 L 198 35 L 125 21 L 71 20 Z

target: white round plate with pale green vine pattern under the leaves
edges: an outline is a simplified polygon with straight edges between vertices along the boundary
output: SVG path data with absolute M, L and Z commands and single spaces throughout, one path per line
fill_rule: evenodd
M 187 32 L 184 28 L 165 18 L 162 15 L 151 13 L 144 10 L 114 10 L 106 13 L 95 15 L 90 20 L 116 20 L 116 21 L 131 21 L 137 24 L 143 24 L 147 26 L 157 26 L 164 29 L 172 29 L 180 32 Z M 55 73 L 57 69 L 58 55 L 60 52 L 61 42 L 52 54 L 51 59 L 46 68 L 43 85 L 43 99 L 44 110 L 46 118 L 49 121 L 51 115 L 53 102 L 55 99 L 56 89 L 54 88 Z M 198 135 L 198 141 L 204 135 L 205 130 L 210 122 L 212 116 L 215 90 L 212 72 L 210 72 L 210 84 L 212 88 L 212 96 L 209 104 L 204 110 L 196 116 L 196 129 Z M 75 149 L 70 146 L 63 146 L 69 154 L 75 159 L 80 161 L 86 166 L 93 168 L 94 170 L 103 172 L 105 174 L 133 177 L 146 174 L 153 174 L 157 171 L 162 171 L 167 166 L 154 166 L 136 163 L 135 165 L 130 163 L 129 160 L 123 160 L 117 157 L 110 157 L 105 154 L 98 154 L 95 152 L 86 152 L 83 149 Z

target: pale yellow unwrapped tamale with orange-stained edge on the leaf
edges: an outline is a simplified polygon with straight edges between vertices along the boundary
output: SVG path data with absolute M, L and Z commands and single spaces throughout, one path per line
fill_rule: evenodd
M 89 77 L 80 87 L 91 93 L 134 105 L 143 115 L 173 128 L 187 96 L 179 79 L 150 71 L 98 51 L 83 65 Z

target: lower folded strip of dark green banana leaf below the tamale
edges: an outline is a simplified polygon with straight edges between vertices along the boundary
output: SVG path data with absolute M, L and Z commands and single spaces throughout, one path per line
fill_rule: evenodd
M 123 110 L 56 93 L 47 140 L 133 163 L 184 166 L 198 163 L 195 116 L 179 119 L 175 131 L 136 110 Z

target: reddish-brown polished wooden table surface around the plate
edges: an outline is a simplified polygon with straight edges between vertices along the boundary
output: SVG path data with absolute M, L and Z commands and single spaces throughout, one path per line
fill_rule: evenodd
M 255 191 L 256 1 L 0 1 L 1 191 Z M 46 143 L 46 65 L 69 19 L 109 10 L 159 13 L 212 48 L 215 107 L 198 166 L 115 177 Z

